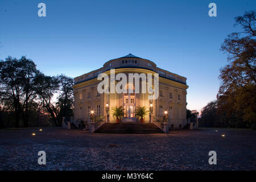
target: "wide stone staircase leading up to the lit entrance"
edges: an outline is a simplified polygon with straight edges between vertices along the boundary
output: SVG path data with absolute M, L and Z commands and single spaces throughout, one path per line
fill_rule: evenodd
M 99 127 L 95 133 L 164 133 L 162 129 L 154 123 L 135 123 L 135 122 L 121 122 L 121 123 L 104 123 Z

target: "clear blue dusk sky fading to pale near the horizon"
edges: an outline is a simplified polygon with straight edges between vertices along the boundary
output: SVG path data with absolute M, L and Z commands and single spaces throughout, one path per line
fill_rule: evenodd
M 46 17 L 38 4 L 46 4 Z M 217 16 L 210 17 L 209 3 Z M 256 1 L 0 1 L 0 60 L 35 61 L 46 75 L 80 76 L 132 53 L 187 77 L 187 108 L 200 111 L 216 99 L 220 51 L 240 31 L 234 17 L 255 10 Z

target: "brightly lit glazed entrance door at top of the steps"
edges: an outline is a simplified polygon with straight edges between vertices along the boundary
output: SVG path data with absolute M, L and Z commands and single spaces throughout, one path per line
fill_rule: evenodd
M 135 117 L 135 95 L 125 94 L 123 96 L 123 108 L 125 109 L 125 118 Z

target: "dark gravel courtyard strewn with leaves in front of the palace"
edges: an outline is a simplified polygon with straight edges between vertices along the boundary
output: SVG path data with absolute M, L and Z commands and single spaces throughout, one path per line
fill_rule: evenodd
M 212 150 L 217 152 L 217 165 L 208 163 Z M 46 151 L 46 165 L 38 164 L 39 151 Z M 0 170 L 256 170 L 256 131 L 90 134 L 52 127 L 0 130 Z

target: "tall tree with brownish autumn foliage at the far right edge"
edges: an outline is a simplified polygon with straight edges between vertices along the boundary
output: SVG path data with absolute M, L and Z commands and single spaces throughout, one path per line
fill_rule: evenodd
M 255 14 L 249 11 L 237 16 L 235 25 L 243 31 L 228 35 L 221 45 L 221 50 L 228 54 L 229 64 L 220 70 L 221 86 L 217 94 L 218 112 L 230 121 L 242 120 L 247 127 L 253 127 L 256 118 Z

